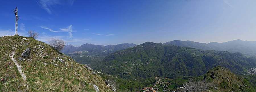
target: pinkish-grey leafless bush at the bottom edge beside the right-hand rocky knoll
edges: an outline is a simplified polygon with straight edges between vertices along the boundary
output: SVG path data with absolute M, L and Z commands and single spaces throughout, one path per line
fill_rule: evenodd
M 189 80 L 187 83 L 184 84 L 184 87 L 189 90 L 190 92 L 206 92 L 206 90 L 212 86 L 212 83 L 207 83 L 206 80 L 203 81 L 193 81 Z

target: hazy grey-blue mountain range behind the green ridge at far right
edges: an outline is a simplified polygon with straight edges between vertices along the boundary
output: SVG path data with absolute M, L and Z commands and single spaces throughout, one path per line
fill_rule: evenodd
M 228 41 L 224 43 L 199 43 L 194 41 L 169 41 L 165 45 L 176 45 L 181 47 L 193 47 L 204 50 L 229 51 L 232 53 L 240 52 L 243 55 L 256 55 L 256 41 L 242 41 L 240 39 Z

